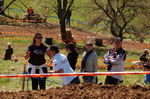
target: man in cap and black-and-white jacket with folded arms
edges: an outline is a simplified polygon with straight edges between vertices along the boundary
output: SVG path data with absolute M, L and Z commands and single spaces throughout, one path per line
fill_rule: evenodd
M 126 51 L 122 48 L 122 39 L 120 37 L 114 38 L 113 48 L 109 49 L 104 55 L 104 63 L 108 65 L 108 72 L 122 72 L 124 71 L 126 59 Z M 105 84 L 122 84 L 122 75 L 106 76 Z

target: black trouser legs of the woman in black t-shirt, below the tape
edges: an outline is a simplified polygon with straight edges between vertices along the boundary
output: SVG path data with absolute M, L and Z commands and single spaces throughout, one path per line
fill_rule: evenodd
M 32 80 L 32 90 L 38 90 L 38 85 L 40 90 L 46 89 L 46 78 L 31 78 Z

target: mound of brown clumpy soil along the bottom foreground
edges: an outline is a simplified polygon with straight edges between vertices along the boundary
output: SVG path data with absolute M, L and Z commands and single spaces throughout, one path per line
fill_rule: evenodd
M 79 84 L 40 91 L 0 92 L 0 99 L 149 99 L 150 86 Z

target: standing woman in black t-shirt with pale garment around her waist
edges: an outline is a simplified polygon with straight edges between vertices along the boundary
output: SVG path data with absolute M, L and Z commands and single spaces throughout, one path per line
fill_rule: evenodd
M 42 34 L 36 33 L 33 38 L 33 44 L 28 47 L 25 59 L 29 59 L 28 72 L 29 74 L 44 74 L 47 73 L 47 67 L 44 65 L 45 53 L 48 55 L 47 47 L 42 43 Z M 32 90 L 46 89 L 46 77 L 31 77 Z

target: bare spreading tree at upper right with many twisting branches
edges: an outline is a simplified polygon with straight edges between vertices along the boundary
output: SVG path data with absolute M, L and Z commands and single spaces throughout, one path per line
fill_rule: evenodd
M 139 14 L 146 13 L 147 8 L 140 4 L 141 0 L 93 0 L 94 10 L 100 13 L 94 18 L 92 25 L 103 23 L 109 26 L 113 36 L 123 38 L 126 32 L 133 32 L 131 22 L 137 20 Z

